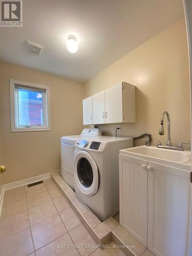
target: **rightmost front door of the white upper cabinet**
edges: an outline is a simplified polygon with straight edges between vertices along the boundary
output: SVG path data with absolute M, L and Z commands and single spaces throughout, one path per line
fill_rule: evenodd
M 106 123 L 123 122 L 122 83 L 105 90 Z

